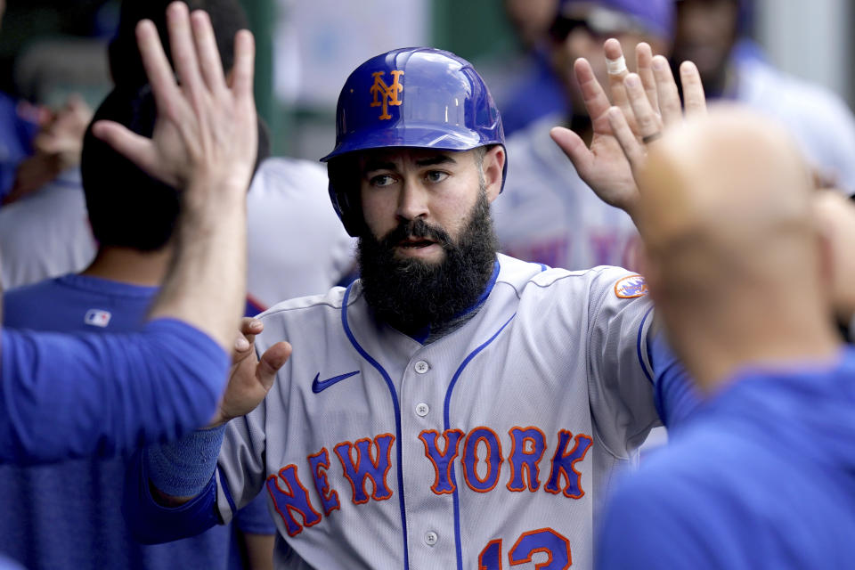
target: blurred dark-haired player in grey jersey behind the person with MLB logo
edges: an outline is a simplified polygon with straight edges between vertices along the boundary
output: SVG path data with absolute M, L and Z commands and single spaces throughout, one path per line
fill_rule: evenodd
M 167 0 L 123 2 L 118 32 L 109 49 L 110 74 L 117 86 L 145 85 L 134 28 L 143 18 L 150 19 L 159 29 L 161 41 L 168 45 L 164 19 L 167 4 Z M 240 4 L 236 0 L 187 0 L 186 4 L 210 14 L 221 59 L 229 69 L 233 30 L 246 24 Z M 0 265 L 7 288 L 77 273 L 92 261 L 96 244 L 87 227 L 82 199 L 72 201 L 69 194 L 73 188 L 63 190 L 16 205 L 17 218 L 26 224 L 9 224 L 7 229 L 0 224 L 0 247 L 8 259 L 0 259 Z M 266 159 L 253 179 L 247 200 L 248 312 L 260 313 L 281 298 L 326 289 L 351 271 L 354 240 L 330 211 L 326 169 L 321 165 L 307 160 Z M 0 219 L 2 216 L 0 210 Z M 301 248 L 281 247 L 297 240 Z

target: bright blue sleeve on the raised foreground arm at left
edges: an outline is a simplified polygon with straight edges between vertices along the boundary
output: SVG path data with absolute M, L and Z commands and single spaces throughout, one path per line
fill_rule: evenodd
M 129 453 L 204 425 L 229 355 L 190 325 L 68 335 L 6 330 L 0 344 L 0 463 Z

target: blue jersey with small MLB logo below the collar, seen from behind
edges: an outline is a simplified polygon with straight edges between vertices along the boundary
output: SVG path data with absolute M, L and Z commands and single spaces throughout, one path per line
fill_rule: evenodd
M 4 298 L 5 325 L 66 333 L 140 330 L 156 292 L 152 287 L 66 275 L 9 291 Z M 156 363 L 155 357 L 152 365 Z M 157 402 L 158 395 L 154 398 Z M 156 414 L 157 403 L 140 407 Z M 30 569 L 240 567 L 240 562 L 229 566 L 234 545 L 230 546 L 227 526 L 168 544 L 134 542 L 121 514 L 125 469 L 123 457 L 0 467 L 4 489 L 0 552 Z M 266 522 L 267 533 L 272 533 L 264 502 L 250 507 L 244 515 L 246 530 L 265 533 Z M 240 517 L 237 520 L 242 528 Z

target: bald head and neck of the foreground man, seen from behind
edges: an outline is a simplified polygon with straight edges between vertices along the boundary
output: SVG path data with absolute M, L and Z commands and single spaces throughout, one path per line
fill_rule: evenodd
M 781 127 L 712 110 L 654 145 L 639 187 L 650 289 L 700 376 L 727 373 L 698 360 L 711 345 L 752 361 L 792 340 L 775 330 L 825 326 L 810 169 Z

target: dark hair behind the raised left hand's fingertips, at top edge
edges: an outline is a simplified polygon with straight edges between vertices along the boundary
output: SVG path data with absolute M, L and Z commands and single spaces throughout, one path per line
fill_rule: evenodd
M 234 64 L 234 35 L 248 28 L 247 16 L 237 0 L 182 0 L 192 10 L 204 10 L 211 17 L 216 36 L 216 47 L 228 72 Z M 151 20 L 158 28 L 160 42 L 172 63 L 167 34 L 167 5 L 173 0 L 124 0 L 116 37 L 110 42 L 110 73 L 116 85 L 140 86 L 148 83 L 142 68 L 140 52 L 136 47 L 136 24 Z

